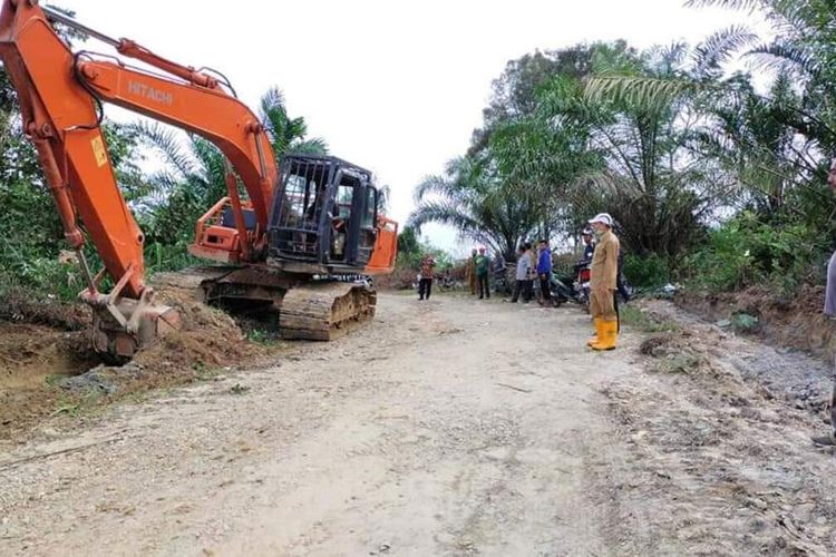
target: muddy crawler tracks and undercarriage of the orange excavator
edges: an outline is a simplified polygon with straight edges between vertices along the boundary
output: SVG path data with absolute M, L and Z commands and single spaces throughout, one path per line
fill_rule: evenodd
M 249 300 L 272 304 L 279 334 L 288 340 L 331 341 L 371 321 L 377 293 L 349 282 L 291 281 L 259 268 L 195 267 L 154 277 L 155 289 L 207 304 Z

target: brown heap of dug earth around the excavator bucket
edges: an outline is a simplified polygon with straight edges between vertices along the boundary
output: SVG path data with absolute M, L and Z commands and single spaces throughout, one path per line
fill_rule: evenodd
M 179 312 L 182 330 L 121 367 L 106 365 L 90 350 L 89 320 L 77 319 L 89 314 L 86 306 L 18 305 L 27 311 L 16 319 L 27 323 L 0 322 L 0 440 L 54 416 L 75 417 L 129 394 L 257 364 L 280 349 L 250 342 L 229 314 L 195 301 L 188 291 L 164 290 L 157 299 Z M 67 331 L 82 325 L 85 330 Z

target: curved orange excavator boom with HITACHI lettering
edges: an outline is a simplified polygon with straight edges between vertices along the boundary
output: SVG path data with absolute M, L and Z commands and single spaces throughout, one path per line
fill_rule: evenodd
M 130 39 L 114 39 L 80 25 L 72 18 L 45 8 L 59 21 L 139 60 L 164 75 L 132 68 L 113 57 L 79 52 L 74 57 L 74 76 L 90 95 L 128 110 L 177 126 L 213 143 L 227 160 L 229 198 L 222 199 L 197 223 L 193 254 L 222 262 L 257 261 L 266 240 L 268 216 L 278 168 L 270 138 L 259 118 L 235 98 L 232 87 L 224 90 L 218 79 L 193 67 L 167 60 Z M 230 165 L 235 169 L 233 174 Z M 246 207 L 240 199 L 237 179 L 246 189 Z M 235 224 L 207 224 L 223 214 L 226 204 Z M 247 226 L 244 211 L 252 209 L 257 226 Z

